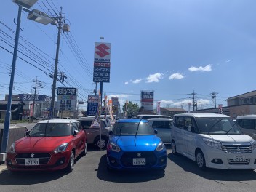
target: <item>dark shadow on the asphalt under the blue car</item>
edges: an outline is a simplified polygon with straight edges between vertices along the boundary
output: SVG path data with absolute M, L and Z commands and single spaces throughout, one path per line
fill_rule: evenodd
M 107 169 L 107 158 L 103 155 L 100 158 L 99 167 L 95 169 L 100 180 L 115 183 L 140 183 L 150 180 L 157 180 L 164 177 L 164 171 L 140 170 L 140 171 L 111 171 Z

